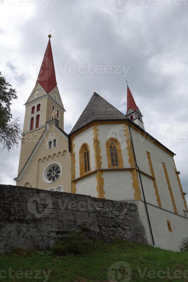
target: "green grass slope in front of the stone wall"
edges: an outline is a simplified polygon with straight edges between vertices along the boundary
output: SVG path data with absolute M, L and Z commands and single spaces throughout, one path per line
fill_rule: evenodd
M 108 268 L 119 261 L 125 261 L 131 265 L 132 278 L 125 279 L 125 276 L 124 279 L 119 279 L 120 276 L 118 276 L 118 280 L 108 280 Z M 119 266 L 121 265 L 119 264 Z M 12 278 L 9 278 L 8 274 L 10 268 L 14 270 L 11 273 Z M 139 276 L 138 268 L 141 273 L 146 270 L 144 278 Z M 10 254 L 0 254 L 0 281 L 6 282 L 188 281 L 188 271 L 184 273 L 187 278 L 182 275 L 187 269 L 188 252 L 166 251 L 142 243 L 120 240 L 110 245 L 101 241 L 93 241 L 89 249 L 84 249 L 82 254 L 77 255 L 57 256 L 53 251 L 25 251 L 21 249 Z M 16 270 L 21 271 L 16 273 Z M 42 274 L 39 272 L 37 274 L 37 270 L 43 270 Z M 155 276 L 154 272 L 158 270 L 164 270 L 165 274 L 160 273 L 164 277 L 151 279 Z M 48 271 L 51 272 L 47 279 L 44 273 L 48 273 Z M 148 271 L 151 276 L 148 276 Z M 121 273 L 123 275 L 123 272 L 120 271 L 119 274 L 121 275 Z M 30 279 L 27 278 L 28 276 L 26 277 L 29 274 Z M 171 275 L 171 279 L 168 277 L 169 275 Z M 176 278 L 178 276 L 179 278 Z

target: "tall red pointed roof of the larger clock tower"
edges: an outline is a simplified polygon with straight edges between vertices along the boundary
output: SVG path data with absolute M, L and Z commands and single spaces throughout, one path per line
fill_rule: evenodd
M 39 75 L 36 82 L 36 84 L 39 83 L 43 87 L 43 89 L 46 91 L 47 94 L 57 86 L 56 77 L 55 77 L 55 68 L 53 63 L 53 55 L 51 50 L 51 42 L 50 42 L 51 35 L 49 35 L 48 37 L 49 37 L 48 45 L 46 48 L 46 52 L 44 54 L 43 62 L 41 64 L 41 69 L 39 71 Z

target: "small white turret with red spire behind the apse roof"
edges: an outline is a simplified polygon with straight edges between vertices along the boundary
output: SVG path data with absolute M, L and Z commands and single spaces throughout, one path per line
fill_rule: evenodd
M 134 121 L 137 125 L 139 125 L 142 129 L 144 129 L 144 123 L 142 120 L 142 114 L 135 103 L 133 95 L 127 84 L 127 112 L 126 117 Z M 145 129 L 144 129 L 145 130 Z

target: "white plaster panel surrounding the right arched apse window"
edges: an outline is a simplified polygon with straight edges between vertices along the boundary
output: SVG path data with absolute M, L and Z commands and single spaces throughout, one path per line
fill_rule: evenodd
M 121 145 L 122 150 L 122 158 L 124 167 L 130 167 L 128 162 L 128 155 L 127 155 L 127 144 L 125 142 L 125 132 L 124 132 L 124 124 L 99 124 L 99 140 L 100 140 L 100 147 L 101 147 L 101 156 L 102 156 L 102 168 L 108 168 L 107 157 L 106 157 L 106 141 L 110 137 L 116 138 Z

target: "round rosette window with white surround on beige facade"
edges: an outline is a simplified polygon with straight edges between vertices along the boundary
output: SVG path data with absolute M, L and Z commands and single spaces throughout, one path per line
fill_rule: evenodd
M 43 180 L 46 183 L 54 182 L 60 177 L 61 172 L 62 167 L 59 163 L 51 163 L 45 168 L 43 172 Z

